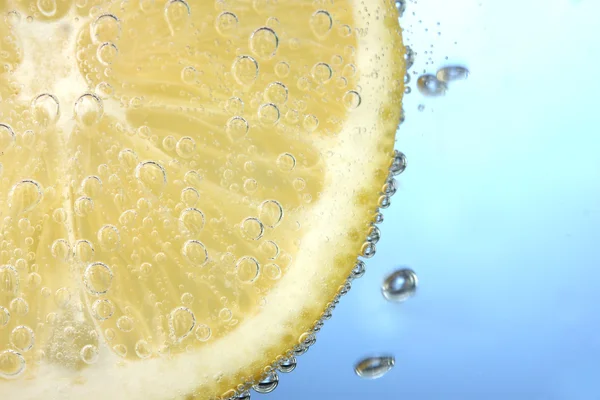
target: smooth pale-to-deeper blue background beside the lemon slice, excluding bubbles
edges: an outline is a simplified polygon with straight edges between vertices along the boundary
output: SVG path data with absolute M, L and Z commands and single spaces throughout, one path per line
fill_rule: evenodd
M 416 71 L 472 75 L 407 96 L 408 168 L 377 255 L 266 398 L 600 399 L 600 1 L 419 0 L 405 15 Z M 387 303 L 401 265 L 418 294 Z M 379 352 L 396 356 L 388 375 L 354 375 Z

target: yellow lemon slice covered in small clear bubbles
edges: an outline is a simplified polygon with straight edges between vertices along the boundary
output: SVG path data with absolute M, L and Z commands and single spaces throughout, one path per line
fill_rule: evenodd
M 0 12 L 3 398 L 227 398 L 310 339 L 389 202 L 394 2 Z

